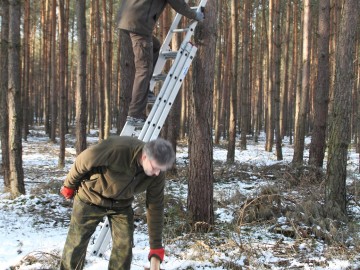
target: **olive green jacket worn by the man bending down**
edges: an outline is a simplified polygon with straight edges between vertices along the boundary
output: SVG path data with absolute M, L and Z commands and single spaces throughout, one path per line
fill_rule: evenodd
M 78 155 L 64 186 L 77 189 L 85 203 L 105 208 L 131 206 L 134 195 L 146 191 L 151 248 L 162 246 L 165 174 L 147 176 L 138 164 L 144 142 L 114 136 Z

